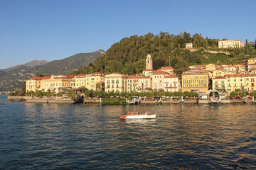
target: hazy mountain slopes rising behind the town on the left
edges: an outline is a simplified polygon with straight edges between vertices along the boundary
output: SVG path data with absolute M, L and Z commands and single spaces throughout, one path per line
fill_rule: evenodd
M 102 55 L 105 55 L 105 51 L 97 50 L 96 52 L 79 53 L 63 60 L 54 60 L 52 62 L 34 60 L 26 64 L 11 67 L 6 72 L 4 72 L 6 69 L 2 69 L 0 70 L 0 91 L 20 89 L 26 79 L 35 76 L 37 69 L 41 74 L 68 74 L 78 69 L 80 65 L 87 66 L 95 62 L 96 58 Z M 40 64 L 43 62 L 46 62 L 46 64 Z

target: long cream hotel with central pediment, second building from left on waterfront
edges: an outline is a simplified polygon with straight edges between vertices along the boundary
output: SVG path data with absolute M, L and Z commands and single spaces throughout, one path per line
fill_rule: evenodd
M 44 78 L 42 79 L 41 90 L 43 91 L 50 90 L 58 93 L 63 89 L 73 89 L 75 87 L 74 77 L 75 76 L 52 75 L 50 79 Z

